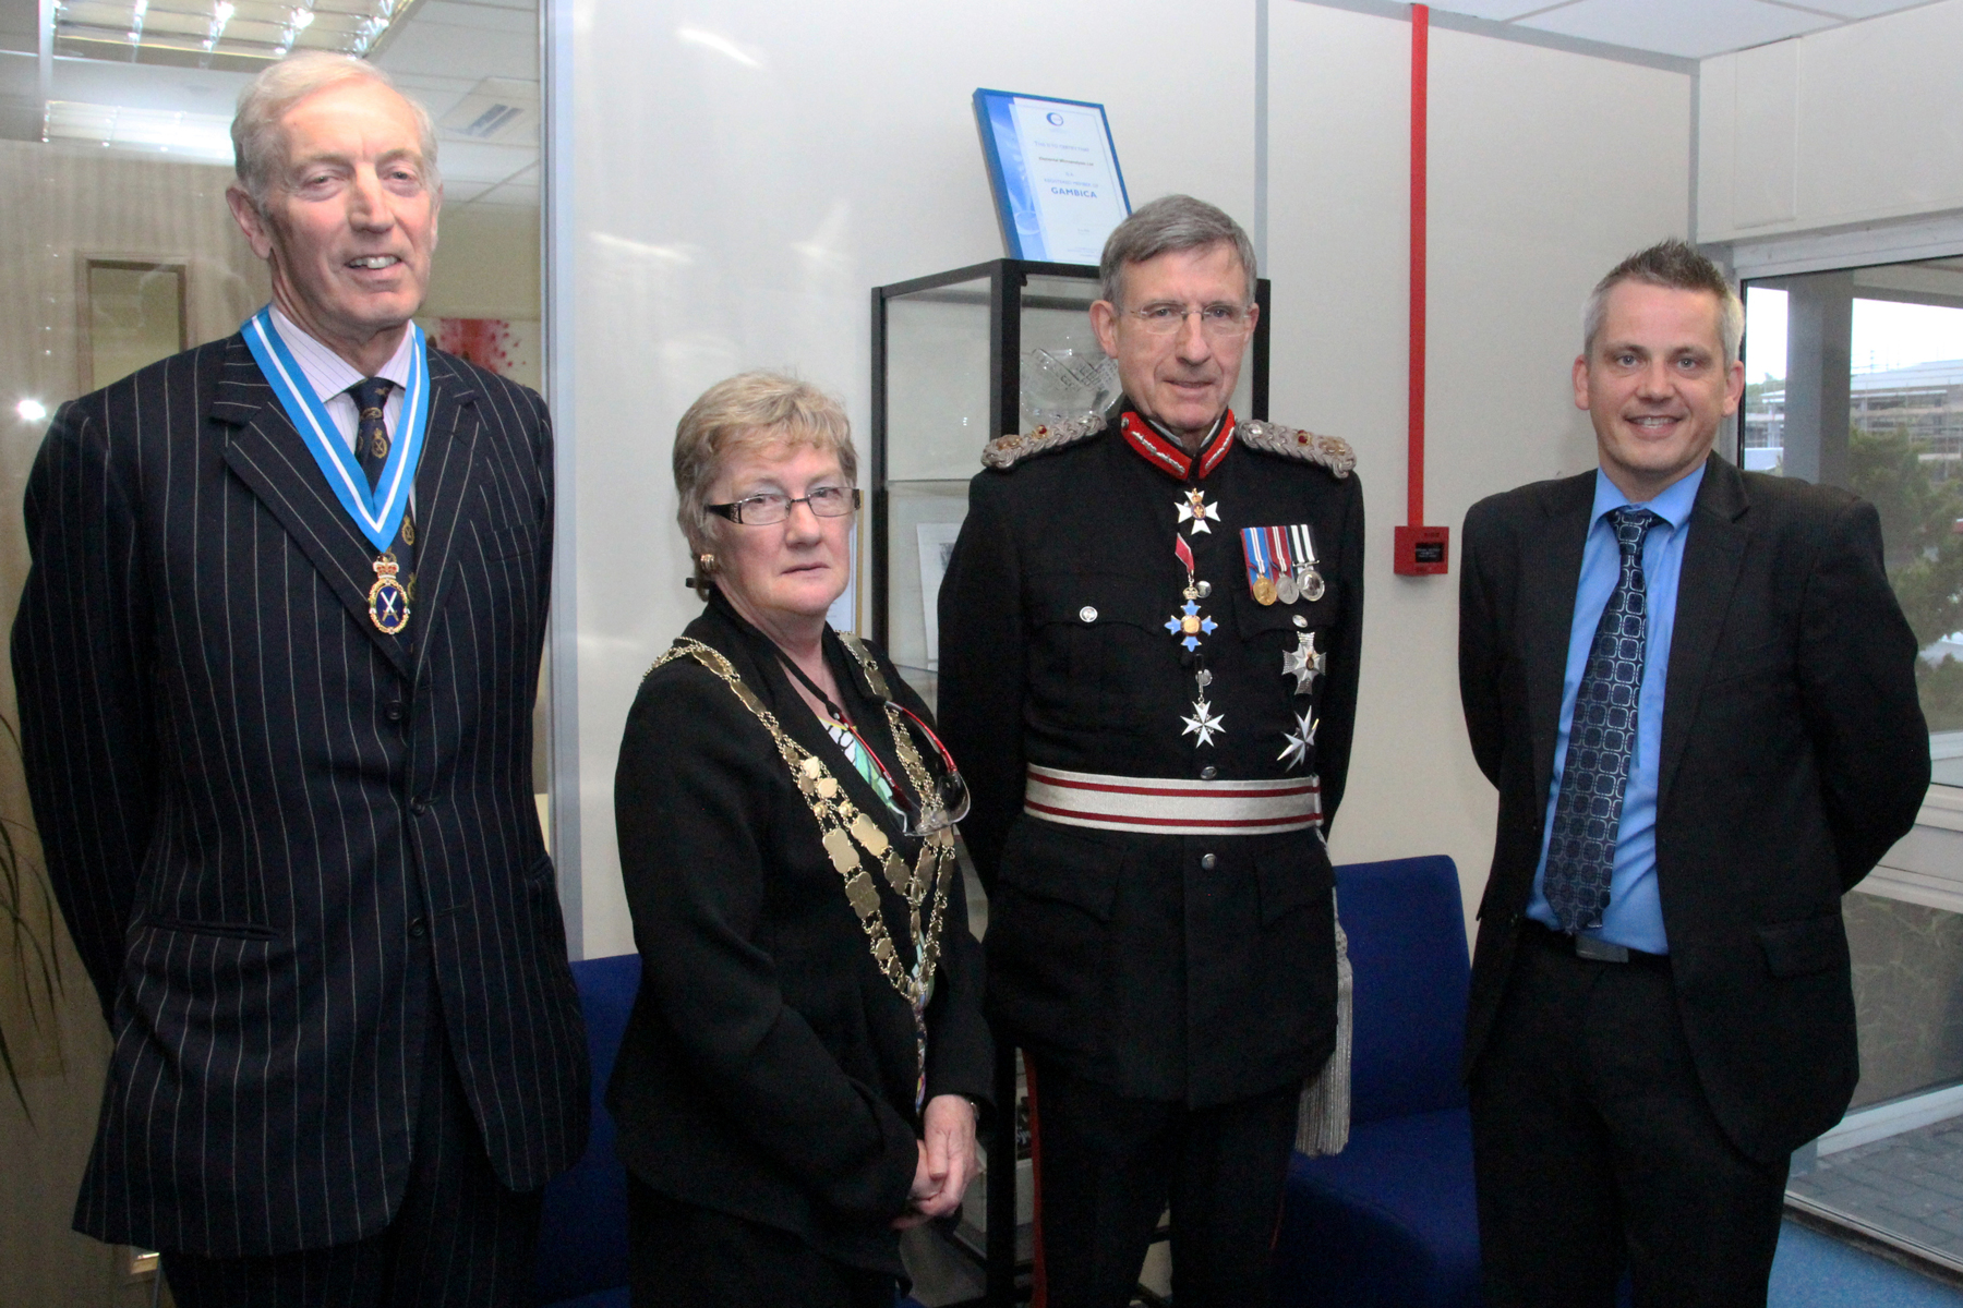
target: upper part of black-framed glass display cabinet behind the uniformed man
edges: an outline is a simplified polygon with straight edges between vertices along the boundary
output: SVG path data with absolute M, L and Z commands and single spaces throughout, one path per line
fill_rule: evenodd
M 991 259 L 872 292 L 870 633 L 936 704 L 934 604 L 968 478 L 997 435 L 1101 410 L 1119 394 L 1089 306 L 1097 269 Z M 1268 282 L 1233 396 L 1268 416 Z

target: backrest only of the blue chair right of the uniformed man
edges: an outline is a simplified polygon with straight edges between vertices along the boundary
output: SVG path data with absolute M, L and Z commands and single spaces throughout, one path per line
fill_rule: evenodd
M 1459 869 L 1445 855 L 1337 869 L 1337 912 L 1356 975 L 1351 1120 L 1466 1102 L 1466 957 Z

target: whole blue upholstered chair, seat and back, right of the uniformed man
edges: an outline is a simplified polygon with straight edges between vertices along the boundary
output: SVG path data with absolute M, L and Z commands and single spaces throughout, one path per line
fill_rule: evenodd
M 1476 1308 L 1459 871 L 1447 857 L 1339 867 L 1337 908 L 1356 975 L 1351 1139 L 1288 1169 L 1274 1302 Z

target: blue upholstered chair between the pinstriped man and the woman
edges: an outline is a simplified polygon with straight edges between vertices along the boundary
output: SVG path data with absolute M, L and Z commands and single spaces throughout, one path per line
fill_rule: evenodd
M 601 1096 L 640 988 L 640 955 L 573 963 L 573 984 L 593 1059 L 593 1135 L 573 1171 L 546 1186 L 534 1284 L 546 1308 L 626 1308 L 626 1169 Z

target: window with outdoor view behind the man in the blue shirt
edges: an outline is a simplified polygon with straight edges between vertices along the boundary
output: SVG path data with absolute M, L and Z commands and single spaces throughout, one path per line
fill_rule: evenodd
M 1936 784 L 1843 900 L 1861 1081 L 1788 1202 L 1963 1271 L 1963 259 L 1745 284 L 1739 463 L 1881 512 Z

